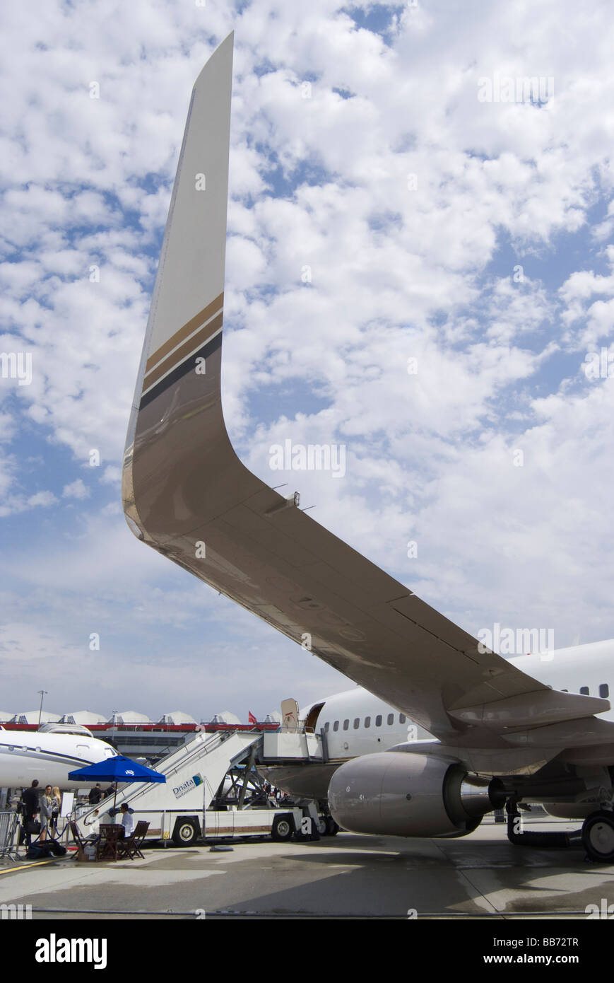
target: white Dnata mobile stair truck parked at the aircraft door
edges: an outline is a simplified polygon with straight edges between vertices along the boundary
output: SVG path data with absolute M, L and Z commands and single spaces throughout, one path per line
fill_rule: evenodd
M 253 760 L 253 750 L 262 733 L 254 730 L 216 730 L 200 732 L 155 766 L 166 782 L 126 784 L 117 793 L 116 811 L 126 802 L 135 812 L 135 825 L 149 823 L 147 839 L 172 841 L 176 846 L 191 846 L 199 837 L 229 838 L 267 836 L 289 839 L 301 829 L 307 813 L 304 808 L 209 809 L 227 772 L 246 758 Z M 250 754 L 251 752 L 251 754 Z M 103 799 L 77 820 L 80 832 L 87 836 L 88 820 L 95 808 L 98 821 L 112 823 L 112 801 Z M 208 811 L 207 811 L 208 810 Z M 308 814 L 313 807 L 308 808 Z

